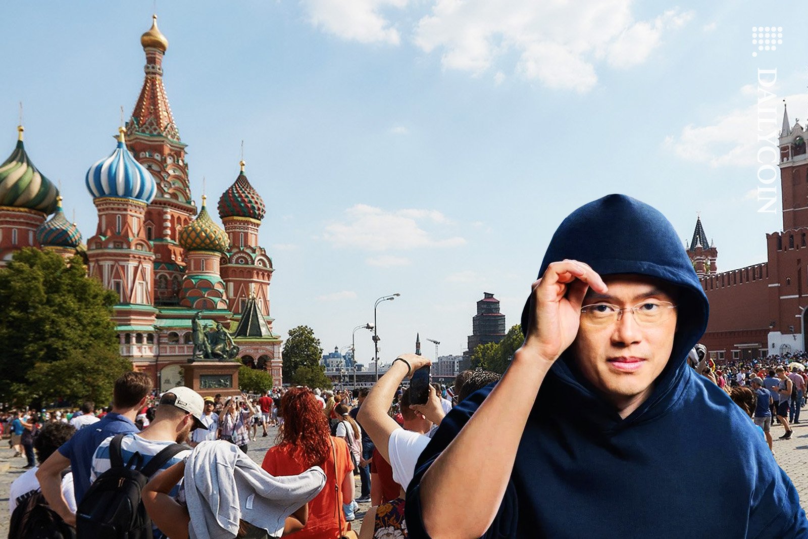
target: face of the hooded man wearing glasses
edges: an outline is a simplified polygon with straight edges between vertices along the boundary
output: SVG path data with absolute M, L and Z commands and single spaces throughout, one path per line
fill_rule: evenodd
M 583 305 L 610 304 L 631 308 L 646 301 L 676 304 L 672 286 L 662 280 L 638 275 L 604 276 L 608 293 L 591 290 Z M 598 326 L 581 319 L 572 343 L 579 368 L 587 380 L 620 406 L 635 398 L 647 398 L 653 383 L 671 356 L 676 331 L 676 310 L 654 325 L 641 325 L 630 311 L 616 322 Z

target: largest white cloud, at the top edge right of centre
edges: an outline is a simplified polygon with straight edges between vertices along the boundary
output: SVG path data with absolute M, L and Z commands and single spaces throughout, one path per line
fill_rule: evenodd
M 595 86 L 595 61 L 616 68 L 646 61 L 663 34 L 692 12 L 665 11 L 634 20 L 631 0 L 436 0 L 415 27 L 415 44 L 441 51 L 444 69 L 480 74 L 516 52 L 516 73 L 552 88 L 584 92 Z

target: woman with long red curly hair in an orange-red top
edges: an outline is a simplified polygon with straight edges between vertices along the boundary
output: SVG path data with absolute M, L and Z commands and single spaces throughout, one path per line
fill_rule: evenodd
M 326 486 L 309 502 L 309 520 L 297 539 L 338 539 L 347 528 L 343 503 L 354 498 L 353 462 L 342 438 L 331 436 L 328 419 L 314 393 L 292 388 L 280 399 L 284 423 L 278 444 L 269 448 L 261 467 L 269 474 L 297 475 L 318 465 Z

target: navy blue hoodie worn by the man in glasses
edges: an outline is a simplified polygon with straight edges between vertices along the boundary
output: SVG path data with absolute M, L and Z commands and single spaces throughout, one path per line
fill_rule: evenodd
M 704 334 L 709 306 L 670 222 L 628 196 L 604 196 L 566 217 L 539 276 L 562 259 L 586 262 L 601 276 L 642 274 L 680 287 L 673 351 L 650 398 L 625 419 L 579 373 L 570 349 L 562 354 L 541 385 L 483 537 L 808 537 L 797 491 L 760 428 L 685 361 Z M 406 495 L 410 537 L 428 537 L 424 472 L 492 387 L 455 407 L 421 454 Z M 498 457 L 496 440 L 491 432 L 490 459 Z

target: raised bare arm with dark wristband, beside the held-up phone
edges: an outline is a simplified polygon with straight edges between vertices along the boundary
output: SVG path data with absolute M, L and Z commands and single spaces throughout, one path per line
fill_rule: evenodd
M 356 419 L 364 428 L 373 444 L 379 450 L 385 461 L 389 461 L 387 444 L 390 433 L 401 428 L 395 419 L 387 415 L 390 405 L 393 404 L 393 397 L 396 395 L 398 386 L 401 385 L 405 377 L 424 365 L 431 365 L 431 360 L 415 354 L 403 354 L 393 360 L 393 364 L 387 369 L 385 375 L 379 378 L 368 396 L 364 398 Z

